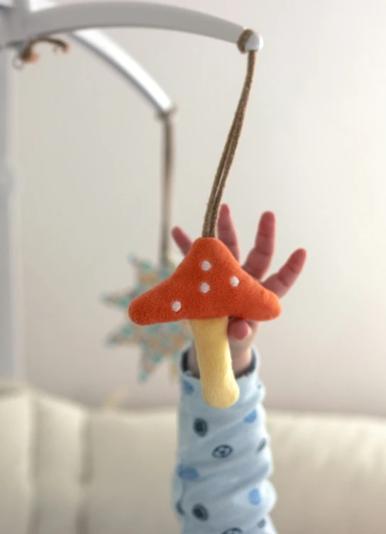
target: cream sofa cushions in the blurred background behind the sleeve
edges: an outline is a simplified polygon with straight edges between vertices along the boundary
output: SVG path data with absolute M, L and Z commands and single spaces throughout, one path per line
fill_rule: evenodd
M 280 534 L 386 533 L 386 422 L 269 413 Z M 174 410 L 0 387 L 1 534 L 177 534 Z

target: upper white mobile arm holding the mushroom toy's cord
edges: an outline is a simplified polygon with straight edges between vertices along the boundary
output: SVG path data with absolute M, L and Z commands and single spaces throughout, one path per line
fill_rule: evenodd
M 191 9 L 145 2 L 98 1 L 67 4 L 30 11 L 21 5 L 5 10 L 0 21 L 0 48 L 24 43 L 31 38 L 67 33 L 84 28 L 162 28 L 236 43 L 243 26 Z M 248 38 L 245 49 L 259 50 L 257 33 Z

